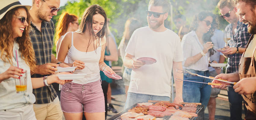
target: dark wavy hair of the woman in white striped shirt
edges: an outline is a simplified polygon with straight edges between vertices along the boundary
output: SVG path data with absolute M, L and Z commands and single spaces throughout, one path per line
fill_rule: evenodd
M 194 17 L 194 19 L 193 19 L 193 21 L 192 21 L 192 23 L 191 23 L 191 26 L 190 26 L 190 28 L 189 28 L 189 31 L 192 31 L 192 30 L 194 30 L 194 31 L 196 31 L 197 30 L 197 28 L 198 28 L 198 21 L 203 21 L 206 17 L 208 17 L 208 16 L 211 16 L 212 18 L 213 18 L 213 22 L 212 23 L 214 23 L 214 28 L 216 27 L 216 16 L 213 14 L 213 13 L 211 13 L 211 12 L 209 12 L 209 11 L 202 11 L 202 12 L 200 12 L 200 13 L 198 13 L 197 15 L 195 15 L 195 17 Z M 212 26 L 211 26 L 212 27 Z M 203 35 L 203 41 L 204 41 L 204 43 L 206 43 L 206 42 L 211 42 L 211 37 L 213 36 L 213 32 L 214 32 L 214 30 L 215 29 L 213 29 L 213 28 L 211 28 L 207 33 L 205 33 L 204 35 Z M 213 55 L 214 54 L 214 52 L 216 52 L 214 49 L 209 49 L 208 50 L 209 52 L 210 52 L 210 56 L 211 55 Z

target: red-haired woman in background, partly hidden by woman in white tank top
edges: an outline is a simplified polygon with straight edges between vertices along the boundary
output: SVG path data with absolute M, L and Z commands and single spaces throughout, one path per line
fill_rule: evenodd
M 56 54 L 58 54 L 58 50 L 61 44 L 61 40 L 63 38 L 63 36 L 67 33 L 67 32 L 73 32 L 76 31 L 77 28 L 79 26 L 78 23 L 78 17 L 76 15 L 73 14 L 69 14 L 67 12 L 64 12 L 61 14 L 59 20 L 58 20 L 58 24 L 56 27 L 56 40 L 55 40 L 55 45 L 56 45 Z M 66 63 L 68 63 L 67 61 L 67 57 L 65 58 Z M 72 66 L 72 65 L 71 65 Z M 58 93 L 58 97 L 60 99 L 60 91 L 61 91 L 61 84 L 52 84 L 55 91 Z

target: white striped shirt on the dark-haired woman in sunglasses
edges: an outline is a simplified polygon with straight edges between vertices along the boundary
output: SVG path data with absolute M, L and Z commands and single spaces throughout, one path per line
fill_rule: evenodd
M 208 64 L 210 60 L 210 55 L 208 52 L 205 54 L 205 56 L 200 58 L 194 64 L 191 64 L 188 67 L 184 67 L 184 63 L 187 60 L 187 58 L 197 55 L 204 49 L 204 47 L 199 42 L 199 39 L 195 34 L 195 31 L 191 31 L 188 34 L 184 35 L 181 41 L 181 47 L 184 55 L 184 61 L 182 62 L 183 69 L 193 69 L 198 71 L 208 70 Z

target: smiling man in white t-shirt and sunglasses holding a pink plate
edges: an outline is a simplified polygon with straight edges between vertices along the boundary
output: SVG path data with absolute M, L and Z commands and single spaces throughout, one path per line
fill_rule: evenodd
M 182 70 L 180 38 L 164 27 L 169 10 L 170 3 L 167 0 L 149 1 L 148 26 L 135 30 L 130 38 L 123 60 L 126 67 L 133 68 L 125 108 L 148 100 L 170 101 L 172 68 L 174 78 L 183 79 L 183 73 L 176 72 L 176 69 Z M 145 65 L 136 60 L 139 57 L 155 58 L 157 62 Z M 183 82 L 176 81 L 175 85 L 176 97 L 173 102 L 183 102 Z

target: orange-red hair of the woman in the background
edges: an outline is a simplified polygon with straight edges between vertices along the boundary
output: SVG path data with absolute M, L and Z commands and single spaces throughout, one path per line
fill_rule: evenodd
M 58 24 L 56 27 L 56 41 L 55 44 L 58 42 L 58 40 L 61 38 L 62 35 L 65 35 L 67 32 L 68 24 L 70 22 L 74 22 L 78 19 L 76 15 L 69 14 L 67 12 L 64 12 L 61 14 Z

